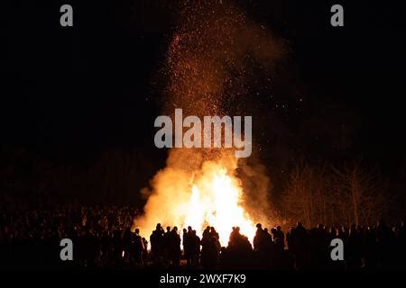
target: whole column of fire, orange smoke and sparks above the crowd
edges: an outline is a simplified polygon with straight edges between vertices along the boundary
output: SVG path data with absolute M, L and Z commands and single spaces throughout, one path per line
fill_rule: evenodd
M 282 51 L 269 31 L 225 1 L 182 2 L 180 23 L 161 70 L 167 79 L 164 112 L 173 116 L 175 108 L 182 108 L 200 117 L 244 115 L 233 102 L 248 95 L 252 67 L 272 69 Z M 226 245 L 232 226 L 240 226 L 252 240 L 256 221 L 273 223 L 264 167 L 233 156 L 228 149 L 171 149 L 137 220 L 143 234 L 149 235 L 156 223 L 179 229 L 193 225 L 198 232 L 210 225 Z

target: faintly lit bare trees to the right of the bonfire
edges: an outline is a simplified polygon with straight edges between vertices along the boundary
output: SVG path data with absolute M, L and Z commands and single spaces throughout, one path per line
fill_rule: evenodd
M 341 169 L 300 162 L 291 172 L 283 194 L 285 218 L 318 223 L 371 225 L 386 214 L 390 199 L 377 169 L 360 162 Z

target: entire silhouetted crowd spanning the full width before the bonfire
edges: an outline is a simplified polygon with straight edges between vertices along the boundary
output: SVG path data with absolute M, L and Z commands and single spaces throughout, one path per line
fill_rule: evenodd
M 130 207 L 54 207 L 3 212 L 0 219 L 2 267 L 186 267 L 191 269 L 362 269 L 406 266 L 404 222 L 376 226 L 287 230 L 256 225 L 252 243 L 233 227 L 222 247 L 215 227 L 201 237 L 192 227 L 156 225 L 150 236 L 136 229 Z M 143 236 L 142 236 L 143 235 Z M 60 260 L 60 239 L 71 238 L 74 261 Z M 333 238 L 344 243 L 344 261 L 330 257 Z M 149 249 L 150 247 L 150 249 Z

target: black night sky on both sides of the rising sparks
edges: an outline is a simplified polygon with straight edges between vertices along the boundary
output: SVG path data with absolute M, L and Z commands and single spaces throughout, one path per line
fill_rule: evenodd
M 153 146 L 161 99 L 152 82 L 171 37 L 174 5 L 158 0 L 8 2 L 0 12 L 5 28 L 2 171 L 38 158 L 75 170 L 108 151 L 132 151 L 137 176 L 127 188 L 136 192 L 166 156 Z M 59 24 L 65 2 L 74 8 L 73 28 Z M 263 162 L 274 163 L 268 167 L 273 179 L 289 166 L 282 156 L 302 153 L 328 161 L 363 157 L 378 163 L 393 183 L 403 182 L 406 18 L 399 3 L 240 1 L 247 14 L 289 41 L 304 100 L 286 123 L 290 138 L 263 141 Z M 332 4 L 344 6 L 345 27 L 329 25 Z M 266 107 L 274 105 L 267 101 Z M 337 127 L 345 144 L 337 144 Z M 300 144 L 292 140 L 298 138 Z M 271 143 L 287 152 L 278 154 L 268 147 Z M 27 169 L 17 169 L 14 176 L 35 178 Z

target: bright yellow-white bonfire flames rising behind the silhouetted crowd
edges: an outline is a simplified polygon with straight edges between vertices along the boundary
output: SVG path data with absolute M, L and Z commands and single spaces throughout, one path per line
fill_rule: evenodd
M 142 232 L 150 235 L 161 223 L 178 229 L 191 226 L 201 236 L 211 226 L 227 246 L 233 227 L 240 227 L 252 241 L 254 219 L 245 210 L 242 183 L 235 175 L 238 160 L 230 155 L 202 160 L 190 149 L 171 150 L 169 166 L 152 179 L 153 193 L 137 220 Z

